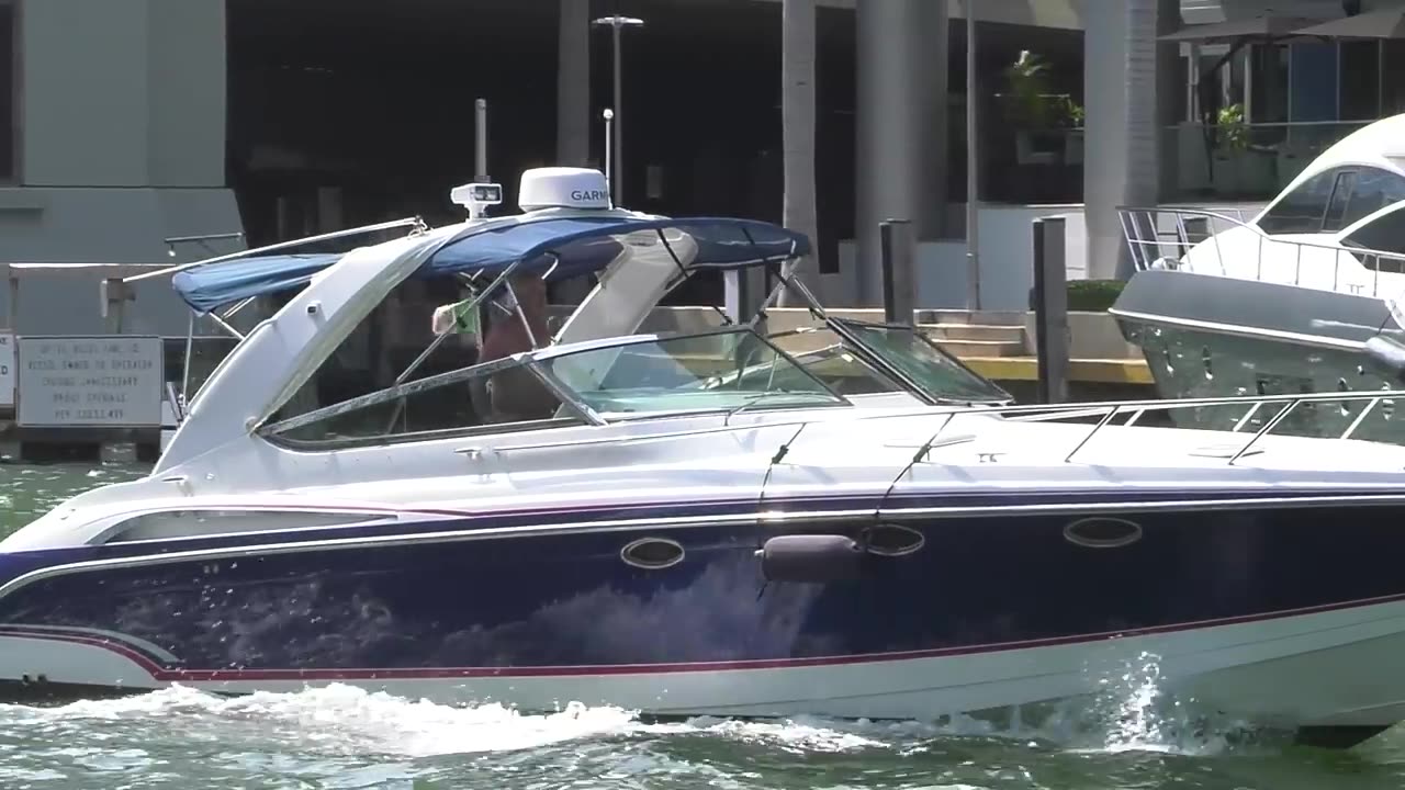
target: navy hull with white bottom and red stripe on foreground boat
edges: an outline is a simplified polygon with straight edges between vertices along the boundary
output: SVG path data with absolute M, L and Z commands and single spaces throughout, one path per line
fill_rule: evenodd
M 1069 538 L 1089 522 L 1079 495 L 1040 496 L 1048 512 L 908 519 L 910 554 L 826 583 L 767 582 L 756 550 L 857 534 L 873 522 L 840 513 L 865 502 L 774 503 L 821 513 L 776 523 L 691 503 L 10 554 L 0 680 L 932 718 L 1154 678 L 1273 725 L 1405 715 L 1405 503 L 1142 493 L 1099 516 L 1099 536 L 1134 538 L 1113 545 Z M 684 548 L 676 565 L 621 559 L 660 537 Z

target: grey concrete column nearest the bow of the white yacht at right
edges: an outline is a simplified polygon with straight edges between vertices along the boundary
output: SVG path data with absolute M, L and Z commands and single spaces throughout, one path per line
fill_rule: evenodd
M 1159 0 L 1086 0 L 1083 8 L 1083 216 L 1087 276 L 1130 277 L 1118 205 L 1154 205 L 1161 148 L 1156 84 Z

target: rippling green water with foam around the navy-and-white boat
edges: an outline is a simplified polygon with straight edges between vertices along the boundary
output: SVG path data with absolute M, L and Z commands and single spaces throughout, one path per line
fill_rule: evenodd
M 0 536 L 138 468 L 0 467 Z M 992 725 L 517 715 L 346 686 L 216 699 L 167 689 L 60 707 L 0 704 L 0 790 L 1214 789 L 1405 787 L 1405 730 L 1356 749 L 1182 727 L 1155 668 L 1092 708 Z

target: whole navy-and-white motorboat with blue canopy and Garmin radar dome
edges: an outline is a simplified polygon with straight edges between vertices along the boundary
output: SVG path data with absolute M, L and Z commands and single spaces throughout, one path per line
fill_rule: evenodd
M 1009 406 L 910 330 L 828 316 L 860 395 L 756 323 L 639 332 L 642 295 L 710 267 L 804 292 L 781 264 L 808 240 L 534 177 L 549 208 L 281 270 L 302 290 L 150 477 L 0 543 L 0 680 L 932 718 L 1151 655 L 1204 710 L 1316 739 L 1405 717 L 1405 448 L 1142 425 L 1204 402 Z M 249 273 L 176 284 L 214 309 L 271 287 Z M 488 278 L 464 308 L 506 290 L 534 335 L 521 278 L 548 273 L 599 273 L 555 343 L 296 405 L 398 284 Z

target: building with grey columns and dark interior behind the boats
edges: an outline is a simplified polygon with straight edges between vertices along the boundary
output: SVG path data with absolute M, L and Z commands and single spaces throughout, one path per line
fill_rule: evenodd
M 877 298 L 877 224 L 905 216 L 930 245 L 923 301 L 961 304 L 967 4 L 819 0 L 828 299 Z M 1196 186 L 1183 176 L 1198 150 L 1186 128 L 1208 107 L 1200 73 L 1222 56 L 1156 35 L 1177 17 L 1267 13 L 1259 6 L 976 0 L 981 198 L 1035 205 L 1012 214 L 1027 238 L 1030 212 L 1086 195 L 1087 266 L 1071 264 L 1110 276 L 1111 207 Z M 1321 18 L 1350 10 L 1295 6 Z M 261 245 L 414 214 L 454 219 L 448 190 L 473 177 L 475 98 L 489 104 L 490 176 L 509 201 L 524 167 L 599 166 L 614 52 L 592 21 L 615 13 L 645 21 L 621 49 L 625 202 L 780 219 L 780 0 L 0 0 L 0 261 L 169 261 L 171 236 L 243 232 Z M 1242 101 L 1263 124 L 1394 103 L 1383 80 L 1374 104 L 1359 101 L 1359 48 L 1298 46 L 1245 48 L 1215 72 L 1215 101 Z M 1037 124 L 1019 100 L 1034 84 L 1017 82 L 1024 51 L 1044 63 L 1041 107 L 1058 108 Z M 988 245 L 1010 236 L 1002 228 L 982 232 Z M 984 306 L 1017 308 L 1027 266 L 1002 263 L 1002 249 L 982 257 L 995 299 Z

